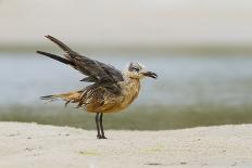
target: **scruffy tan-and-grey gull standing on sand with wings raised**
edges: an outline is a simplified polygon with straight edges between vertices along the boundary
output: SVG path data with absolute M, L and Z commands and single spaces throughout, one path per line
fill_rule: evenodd
M 64 54 L 59 56 L 39 50 L 37 53 L 72 66 L 84 75 L 80 81 L 90 85 L 77 91 L 46 95 L 40 99 L 63 100 L 65 106 L 73 103 L 88 113 L 94 113 L 97 139 L 106 139 L 102 122 L 103 114 L 121 112 L 131 104 L 139 94 L 140 79 L 158 78 L 155 73 L 147 70 L 141 63 L 130 62 L 124 70 L 118 70 L 110 64 L 89 59 L 86 54 L 80 55 L 50 35 L 45 37 L 60 47 Z

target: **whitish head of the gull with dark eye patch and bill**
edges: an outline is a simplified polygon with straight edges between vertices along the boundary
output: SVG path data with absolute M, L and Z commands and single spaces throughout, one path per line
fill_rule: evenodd
M 126 66 L 126 75 L 133 79 L 142 79 L 144 77 L 158 78 L 155 73 L 147 70 L 142 64 L 137 62 L 131 62 Z

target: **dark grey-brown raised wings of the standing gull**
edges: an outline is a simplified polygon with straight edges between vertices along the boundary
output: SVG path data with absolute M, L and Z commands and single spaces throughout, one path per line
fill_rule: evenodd
M 115 89 L 118 87 L 117 83 L 124 80 L 122 73 L 115 67 L 80 55 L 52 36 L 48 35 L 46 37 L 58 44 L 65 52 L 64 57 L 42 51 L 37 51 L 37 53 L 58 60 L 64 64 L 68 64 L 75 69 L 79 70 L 87 76 L 81 81 L 94 82 L 99 86 Z M 115 89 L 116 92 L 118 91 L 117 89 Z

